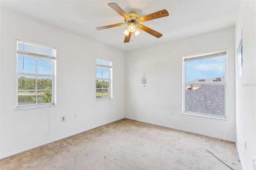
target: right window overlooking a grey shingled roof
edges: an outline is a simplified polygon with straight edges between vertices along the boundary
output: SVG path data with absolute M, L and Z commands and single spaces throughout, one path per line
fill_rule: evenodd
M 226 119 L 226 49 L 183 56 L 183 113 Z

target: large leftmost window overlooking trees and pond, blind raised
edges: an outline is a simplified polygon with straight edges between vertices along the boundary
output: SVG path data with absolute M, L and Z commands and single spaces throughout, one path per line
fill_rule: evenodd
M 56 48 L 17 40 L 17 109 L 54 105 Z

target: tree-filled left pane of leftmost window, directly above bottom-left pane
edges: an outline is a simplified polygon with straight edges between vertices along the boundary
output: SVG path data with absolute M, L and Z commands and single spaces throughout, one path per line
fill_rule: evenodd
M 36 89 L 35 76 L 18 76 L 18 90 Z

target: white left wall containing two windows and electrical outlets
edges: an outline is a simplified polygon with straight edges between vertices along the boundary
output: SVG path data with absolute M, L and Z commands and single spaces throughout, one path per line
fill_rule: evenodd
M 56 106 L 16 110 L 16 39 L 57 48 Z M 0 40 L 0 158 L 124 118 L 123 51 L 3 9 Z M 96 101 L 96 57 L 113 61 L 113 99 Z

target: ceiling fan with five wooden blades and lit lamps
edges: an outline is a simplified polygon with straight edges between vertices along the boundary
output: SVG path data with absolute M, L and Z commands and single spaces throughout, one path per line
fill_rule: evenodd
M 127 24 L 129 27 L 124 31 L 124 34 L 125 34 L 124 43 L 130 42 L 132 32 L 134 32 L 135 37 L 140 34 L 140 31 L 137 28 L 139 28 L 140 30 L 143 30 L 144 32 L 147 32 L 148 34 L 151 34 L 152 36 L 155 36 L 156 38 L 162 37 L 163 34 L 160 34 L 159 32 L 156 32 L 155 30 L 152 30 L 152 29 L 140 24 L 140 22 L 145 22 L 145 21 L 154 20 L 154 19 L 157 19 L 157 18 L 162 18 L 162 17 L 165 17 L 165 16 L 169 16 L 169 13 L 168 13 L 167 10 L 160 10 L 158 12 L 154 12 L 152 14 L 148 14 L 148 15 L 140 17 L 134 11 L 131 11 L 131 12 L 129 12 L 129 14 L 126 14 L 115 3 L 110 3 L 110 4 L 108 4 L 108 6 L 110 6 L 118 14 L 120 14 L 122 17 L 124 17 L 124 23 L 98 27 L 98 28 L 96 28 L 96 30 L 103 30 L 103 29 L 106 29 L 106 28 L 113 28 L 113 27 L 123 26 L 123 25 Z

